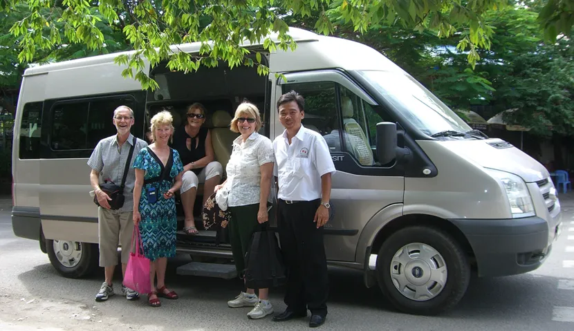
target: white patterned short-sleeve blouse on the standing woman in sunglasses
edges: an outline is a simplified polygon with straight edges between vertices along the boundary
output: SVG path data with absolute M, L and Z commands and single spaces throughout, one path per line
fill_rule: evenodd
M 229 188 L 228 206 L 238 207 L 259 203 L 261 196 L 261 166 L 274 162 L 271 140 L 257 132 L 243 142 L 241 135 L 233 141 L 233 151 L 225 167 Z

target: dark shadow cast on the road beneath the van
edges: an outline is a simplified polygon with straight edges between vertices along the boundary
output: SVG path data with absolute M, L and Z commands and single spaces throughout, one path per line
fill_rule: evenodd
M 166 283 L 178 292 L 181 299 L 191 298 L 194 301 L 225 303 L 241 290 L 239 279 L 227 281 L 219 278 L 177 275 L 176 267 L 189 261 L 187 256 L 177 256 L 168 263 Z M 119 270 L 119 268 L 116 269 L 114 277 L 115 284 L 118 285 L 121 279 Z M 354 308 L 364 308 L 372 313 L 400 314 L 391 307 L 377 286 L 371 289 L 364 287 L 361 272 L 331 267 L 329 276 L 331 292 L 328 302 L 331 307 L 350 305 Z M 92 300 L 99 284 L 103 281 L 103 277 L 102 269 L 98 269 L 98 272 L 83 279 L 64 278 L 57 274 L 49 263 L 38 265 L 18 276 L 30 292 L 37 293 L 41 297 L 49 297 L 50 292 L 53 291 L 50 289 L 62 288 L 69 289 L 69 292 L 62 294 L 63 297 L 68 296 L 67 294 L 74 297 L 83 296 L 86 301 Z M 39 279 L 42 279 L 44 286 L 38 286 Z M 73 293 L 81 291 L 82 287 L 85 288 L 85 286 L 79 285 L 79 282 L 90 283 L 91 292 Z M 467 293 L 459 305 L 454 310 L 440 315 L 439 318 L 481 320 L 504 318 L 512 320 L 532 316 L 535 319 L 541 314 L 541 311 L 544 311 L 544 314 L 547 311 L 548 316 L 551 316 L 553 306 L 568 305 L 569 298 L 557 290 L 557 283 L 557 278 L 534 274 L 500 278 L 477 278 L 473 276 Z M 116 285 L 116 287 L 118 286 Z M 271 300 L 277 305 L 277 308 L 279 308 L 279 304 L 281 305 L 280 310 L 284 309 L 283 294 L 284 288 L 277 288 L 270 293 Z M 228 310 L 222 312 L 228 312 Z

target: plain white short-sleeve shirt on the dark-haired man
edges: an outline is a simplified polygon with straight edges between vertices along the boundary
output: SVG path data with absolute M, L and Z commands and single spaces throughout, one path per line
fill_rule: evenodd
M 323 136 L 301 125 L 291 144 L 286 130 L 275 138 L 273 150 L 273 173 L 279 182 L 277 198 L 302 201 L 321 198 L 321 176 L 335 173 L 335 164 Z

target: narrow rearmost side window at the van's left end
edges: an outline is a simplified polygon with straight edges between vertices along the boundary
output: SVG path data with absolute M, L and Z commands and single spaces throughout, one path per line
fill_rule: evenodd
M 43 102 L 28 102 L 24 105 L 20 123 L 21 160 L 40 158 L 40 138 Z

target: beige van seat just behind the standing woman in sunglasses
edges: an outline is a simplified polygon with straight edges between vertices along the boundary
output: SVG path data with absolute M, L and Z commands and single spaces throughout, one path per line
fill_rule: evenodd
M 227 111 L 215 111 L 212 117 L 213 129 L 211 129 L 211 140 L 215 152 L 215 159 L 225 167 L 229 162 L 232 152 L 233 140 L 239 137 L 239 133 L 234 133 L 229 129 L 232 117 Z

